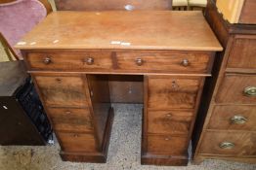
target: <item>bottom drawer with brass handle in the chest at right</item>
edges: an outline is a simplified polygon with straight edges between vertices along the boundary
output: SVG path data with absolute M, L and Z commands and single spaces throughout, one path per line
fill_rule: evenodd
M 206 132 L 200 153 L 256 156 L 255 132 Z

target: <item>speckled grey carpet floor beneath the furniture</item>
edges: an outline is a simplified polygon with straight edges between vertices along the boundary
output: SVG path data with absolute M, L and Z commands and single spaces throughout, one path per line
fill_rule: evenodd
M 46 147 L 0 147 L 0 170 L 256 170 L 256 165 L 205 160 L 187 167 L 140 164 L 142 105 L 113 105 L 115 117 L 107 163 L 64 162 L 56 143 Z

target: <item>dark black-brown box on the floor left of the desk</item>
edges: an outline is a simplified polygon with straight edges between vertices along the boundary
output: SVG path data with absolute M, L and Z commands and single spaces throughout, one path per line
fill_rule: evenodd
M 22 61 L 0 63 L 0 145 L 46 145 L 53 130 Z

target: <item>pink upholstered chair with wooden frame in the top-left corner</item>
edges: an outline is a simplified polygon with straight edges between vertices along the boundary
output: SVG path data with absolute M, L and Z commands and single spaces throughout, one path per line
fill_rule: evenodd
M 21 37 L 52 12 L 47 0 L 0 0 L 0 40 L 9 59 L 22 59 L 13 49 Z

